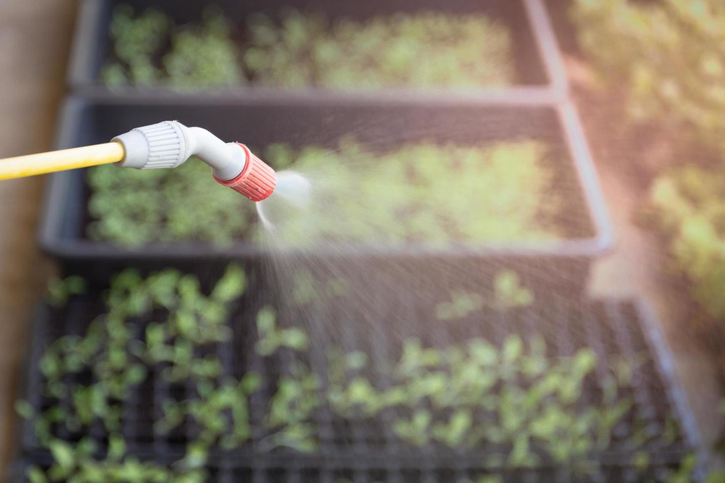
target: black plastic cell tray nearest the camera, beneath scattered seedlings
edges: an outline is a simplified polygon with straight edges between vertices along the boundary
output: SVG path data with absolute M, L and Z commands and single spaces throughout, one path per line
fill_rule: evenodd
M 250 274 L 251 287 L 257 287 L 260 274 Z M 94 290 L 101 290 L 96 287 Z M 262 374 L 264 379 L 274 380 L 283 374 L 289 363 L 290 353 L 280 352 L 274 358 L 262 360 L 254 353 L 257 340 L 252 319 L 264 301 L 265 290 L 252 290 L 244 295 L 231 316 L 233 340 L 218 346 L 226 374 L 240 377 L 248 370 Z M 86 327 L 101 313 L 97 298 L 91 294 L 73 300 L 62 310 L 42 307 L 34 330 L 28 358 L 28 375 L 25 389 L 31 404 L 45 408 L 48 401 L 41 395 L 43 377 L 38 371 L 38 358 L 44 348 L 61 335 L 82 335 Z M 494 345 L 501 345 L 505 337 L 518 334 L 523 340 L 543 335 L 548 347 L 547 356 L 571 356 L 579 348 L 592 348 L 598 360 L 613 356 L 634 359 L 646 356 L 646 363 L 635 369 L 631 382 L 621 388 L 621 396 L 631 398 L 633 406 L 629 416 L 618 423 L 608 450 L 593 455 L 600 463 L 600 474 L 591 480 L 575 476 L 569 470 L 554 464 L 537 469 L 500 470 L 505 482 L 645 482 L 662 481 L 664 469 L 673 469 L 685 455 L 697 453 L 701 446 L 695 422 L 674 380 L 671 355 L 660 337 L 658 324 L 649 308 L 637 301 L 573 301 L 566 295 L 555 296 L 528 308 L 513 311 L 484 311 L 484 314 L 467 316 L 457 321 L 455 327 L 433 320 L 431 311 L 418 304 L 405 303 L 397 298 L 378 295 L 369 301 L 388 319 L 378 319 L 371 324 L 357 319 L 347 306 L 327 308 L 326 316 L 307 321 L 310 324 L 311 348 L 307 363 L 325 380 L 327 374 L 324 353 L 331 343 L 344 351 L 364 350 L 377 360 L 389 360 L 399 354 L 399 343 L 408 337 L 421 340 L 424 347 L 445 348 L 451 344 L 482 337 Z M 347 314 L 347 318 L 346 318 Z M 397 322 L 394 326 L 387 322 Z M 297 319 L 299 321 L 299 319 Z M 321 329 L 320 324 L 334 321 L 334 327 Z M 138 322 L 138 321 L 136 321 Z M 142 320 L 141 323 L 150 322 Z M 143 327 L 143 326 L 141 326 Z M 597 398 L 602 390 L 598 366 L 584 385 L 584 398 Z M 155 372 L 154 372 L 155 374 Z M 78 377 L 83 377 L 80 374 Z M 81 379 L 82 380 L 82 379 Z M 159 377 L 152 376 L 141 390 L 134 391 L 125 405 L 124 432 L 129 453 L 149 461 L 171 463 L 183 455 L 188 431 L 161 437 L 151 431 L 152 421 L 158 408 L 159 398 L 176 391 L 175 396 L 186 394 L 194 397 L 184 385 L 170 387 Z M 260 415 L 268 408 L 272 392 L 262 391 L 252 397 L 251 414 Z M 481 475 L 481 458 L 492 451 L 487 445 L 473 450 L 454 451 L 435 445 L 413 448 L 397 440 L 389 432 L 385 413 L 376 419 L 358 422 L 346 421 L 322 408 L 315 413 L 315 427 L 320 440 L 320 450 L 311 455 L 294 450 L 277 449 L 260 451 L 263 445 L 254 432 L 252 442 L 232 453 L 215 452 L 210 457 L 210 481 L 214 482 L 338 482 L 345 478 L 352 482 L 457 482 Z M 624 441 L 634 431 L 632 421 L 645 421 L 658 434 L 644 448 L 650 455 L 649 469 L 645 474 L 634 472 L 631 466 L 633 450 Z M 671 442 L 659 440 L 658 428 L 666 419 L 674 419 L 679 427 L 678 436 Z M 388 428 L 388 429 L 386 429 Z M 22 467 L 28 464 L 46 466 L 49 455 L 36 447 L 30 424 L 22 424 L 22 444 L 19 463 L 15 467 L 17 479 L 22 478 Z

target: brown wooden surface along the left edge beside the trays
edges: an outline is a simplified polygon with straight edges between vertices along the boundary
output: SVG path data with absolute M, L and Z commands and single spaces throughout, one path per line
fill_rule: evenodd
M 0 0 L 0 158 L 50 148 L 74 21 L 73 0 Z M 49 272 L 35 246 L 44 181 L 0 182 L 0 481 L 30 314 Z

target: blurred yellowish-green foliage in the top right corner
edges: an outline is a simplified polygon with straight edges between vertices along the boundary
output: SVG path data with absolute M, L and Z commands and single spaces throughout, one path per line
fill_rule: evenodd
M 725 3 L 576 0 L 572 13 L 602 77 L 628 88 L 632 119 L 725 152 Z

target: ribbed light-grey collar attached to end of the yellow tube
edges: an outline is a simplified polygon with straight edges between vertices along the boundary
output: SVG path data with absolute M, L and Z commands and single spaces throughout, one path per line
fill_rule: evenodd
M 113 140 L 125 149 L 125 158 L 117 165 L 136 169 L 178 167 L 191 156 L 185 130 L 179 122 L 165 121 L 116 136 Z

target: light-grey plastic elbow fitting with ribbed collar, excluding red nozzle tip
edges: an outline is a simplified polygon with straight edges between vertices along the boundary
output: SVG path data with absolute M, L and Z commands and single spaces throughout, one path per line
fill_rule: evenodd
M 225 143 L 201 127 L 177 121 L 136 127 L 112 139 L 123 144 L 125 157 L 117 166 L 136 169 L 175 168 L 191 156 L 212 167 L 222 181 L 239 177 L 247 166 L 247 152 L 238 143 Z

